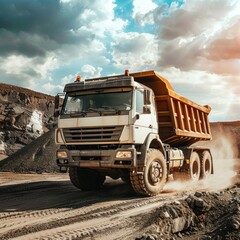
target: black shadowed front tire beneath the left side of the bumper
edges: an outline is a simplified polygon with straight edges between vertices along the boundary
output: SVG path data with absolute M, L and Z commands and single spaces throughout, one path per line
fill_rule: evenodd
M 83 191 L 101 188 L 106 179 L 105 176 L 100 175 L 92 169 L 80 167 L 70 167 L 69 177 L 72 184 Z

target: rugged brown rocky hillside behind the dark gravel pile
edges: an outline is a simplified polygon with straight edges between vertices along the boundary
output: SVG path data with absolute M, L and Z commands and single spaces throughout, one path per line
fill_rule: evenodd
M 0 84 L 0 158 L 53 128 L 54 97 Z

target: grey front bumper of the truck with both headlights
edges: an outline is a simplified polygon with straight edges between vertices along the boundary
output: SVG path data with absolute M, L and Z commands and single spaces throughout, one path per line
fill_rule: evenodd
M 117 157 L 117 152 L 131 152 L 131 156 Z M 65 152 L 65 153 L 64 153 Z M 63 153 L 63 154 L 62 154 Z M 118 148 L 115 150 L 57 150 L 57 165 L 59 167 L 86 167 L 86 168 L 127 168 L 137 166 L 136 149 Z M 61 157 L 58 157 L 61 156 Z

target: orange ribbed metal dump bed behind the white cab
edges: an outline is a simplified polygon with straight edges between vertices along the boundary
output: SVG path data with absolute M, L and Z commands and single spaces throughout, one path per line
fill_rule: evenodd
M 151 88 L 156 97 L 159 136 L 171 146 L 189 146 L 211 139 L 209 106 L 200 106 L 174 92 L 170 83 L 154 71 L 130 74 L 136 82 Z

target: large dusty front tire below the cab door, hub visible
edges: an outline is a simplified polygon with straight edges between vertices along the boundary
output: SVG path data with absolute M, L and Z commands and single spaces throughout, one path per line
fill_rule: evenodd
M 135 192 L 144 196 L 158 195 L 167 179 L 167 165 L 163 154 L 150 148 L 146 155 L 143 174 L 131 173 L 131 184 Z

